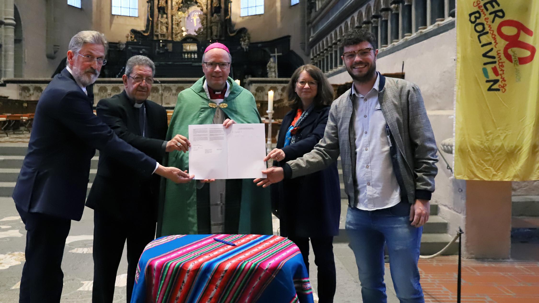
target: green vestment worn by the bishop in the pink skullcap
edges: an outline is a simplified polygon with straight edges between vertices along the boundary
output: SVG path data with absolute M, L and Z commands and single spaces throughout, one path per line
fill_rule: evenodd
M 178 94 L 178 101 L 170 120 L 167 140 L 177 134 L 189 138 L 190 124 L 213 123 L 216 108 L 209 106 L 210 100 L 203 87 L 204 81 L 205 77 L 202 77 L 193 86 Z M 231 77 L 227 81 L 230 85 L 230 93 L 221 103 L 227 104 L 227 107 L 222 108 L 225 115 L 237 123 L 261 123 L 257 104 L 250 91 L 239 86 Z M 170 152 L 164 157 L 163 165 L 189 170 L 189 153 Z M 238 165 L 241 164 L 238 163 Z M 198 230 L 201 228 L 198 226 L 200 213 L 197 214 L 196 185 L 199 181 L 192 180 L 186 184 L 175 184 L 168 179 L 162 179 L 157 236 L 198 234 Z M 227 191 L 229 191 L 229 181 L 236 182 L 238 186 L 232 188 L 238 188 L 238 191 L 226 195 L 225 222 L 227 220 L 226 205 L 229 205 L 230 199 L 236 199 L 239 200 L 235 201 L 236 205 L 239 203 L 239 213 L 236 215 L 236 217 L 239 215 L 238 234 L 271 235 L 273 231 L 269 188 L 257 187 L 253 183 L 253 179 L 227 180 Z M 234 182 L 230 182 L 230 184 L 234 184 Z M 204 188 L 208 190 L 208 185 L 205 185 Z M 199 195 L 200 191 L 199 189 Z M 205 198 L 201 196 L 198 197 L 198 200 Z M 232 201 L 230 204 L 233 204 Z M 232 220 L 236 221 L 237 224 L 237 218 Z M 206 223 L 208 222 L 201 222 L 201 224 Z

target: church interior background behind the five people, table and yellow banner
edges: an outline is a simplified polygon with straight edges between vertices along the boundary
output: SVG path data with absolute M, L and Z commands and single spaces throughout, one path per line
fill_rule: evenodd
M 254 96 L 273 146 L 290 110 L 286 87 L 296 68 L 312 64 L 337 98 L 352 85 L 341 38 L 364 29 L 377 38 L 377 71 L 416 83 L 432 124 L 439 161 L 431 216 L 421 238 L 426 302 L 457 298 L 462 257 L 466 302 L 539 302 L 539 181 L 456 179 L 454 166 L 456 0 L 2 0 L 0 2 L 0 303 L 18 298 L 24 264 L 24 224 L 11 198 L 43 91 L 66 66 L 74 34 L 93 30 L 108 40 L 107 64 L 88 87 L 93 107 L 120 94 L 126 62 L 155 62 L 149 99 L 168 121 L 177 96 L 203 71 L 204 50 L 218 42 L 232 58 L 230 77 Z M 268 91 L 273 116 L 268 116 Z M 269 131 L 268 131 L 269 126 Z M 388 135 L 389 138 L 389 135 Z M 92 159 L 88 190 L 98 165 Z M 338 162 L 341 224 L 334 239 L 335 302 L 361 302 L 354 255 L 344 228 L 348 207 Z M 61 302 L 89 302 L 92 290 L 92 209 L 72 223 L 66 242 Z M 487 215 L 486 215 L 487 214 Z M 274 233 L 279 219 L 273 216 Z M 457 241 L 459 230 L 464 234 Z M 445 249 L 444 249 L 445 248 Z M 314 256 L 312 264 L 314 264 Z M 313 265 L 312 265 L 313 266 Z M 398 302 L 386 264 L 388 302 Z M 122 260 L 114 302 L 126 302 Z M 315 267 L 316 268 L 316 267 Z M 315 268 L 311 283 L 317 285 Z M 460 277 L 460 272 L 459 272 Z M 315 288 L 315 287 L 314 287 Z M 316 302 L 315 293 L 315 302 Z M 460 298 L 460 286 L 459 286 Z M 459 299 L 460 300 L 460 299 Z

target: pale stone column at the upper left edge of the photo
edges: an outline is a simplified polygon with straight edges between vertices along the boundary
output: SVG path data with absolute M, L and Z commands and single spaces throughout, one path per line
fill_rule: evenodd
M 12 78 L 15 69 L 15 6 L 13 0 L 4 0 L 4 54 L 3 77 Z

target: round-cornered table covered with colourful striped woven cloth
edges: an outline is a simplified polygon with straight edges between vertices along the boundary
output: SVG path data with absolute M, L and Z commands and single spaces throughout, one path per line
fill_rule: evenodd
M 313 303 L 313 291 L 300 250 L 287 238 L 175 235 L 144 249 L 131 302 Z

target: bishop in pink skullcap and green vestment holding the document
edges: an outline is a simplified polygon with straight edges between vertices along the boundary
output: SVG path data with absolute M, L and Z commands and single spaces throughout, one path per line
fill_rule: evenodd
M 211 44 L 202 61 L 204 76 L 178 94 L 167 138 L 188 137 L 190 124 L 261 123 L 253 95 L 228 76 L 232 61 L 228 48 Z M 169 153 L 163 162 L 188 170 L 189 153 Z M 157 236 L 184 234 L 271 235 L 269 191 L 252 179 L 187 184 L 163 180 Z

